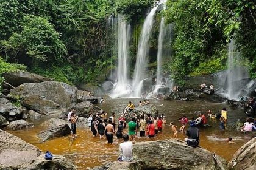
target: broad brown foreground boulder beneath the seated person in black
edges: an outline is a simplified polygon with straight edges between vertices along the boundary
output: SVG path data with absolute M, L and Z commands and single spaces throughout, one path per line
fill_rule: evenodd
M 226 169 L 223 158 L 180 140 L 133 144 L 133 160 L 141 164 L 141 169 Z

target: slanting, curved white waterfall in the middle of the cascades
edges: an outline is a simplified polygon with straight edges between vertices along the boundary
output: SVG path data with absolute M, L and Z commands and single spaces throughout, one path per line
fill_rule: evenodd
M 158 6 L 157 6 L 158 7 Z M 134 97 L 141 97 L 141 89 L 138 87 L 138 84 L 141 83 L 141 81 L 144 80 L 144 78 L 147 77 L 146 73 L 146 66 L 148 64 L 147 61 L 147 56 L 149 53 L 149 38 L 151 35 L 151 29 L 154 21 L 154 15 L 157 10 L 157 7 L 154 7 L 149 15 L 146 17 L 143 27 L 142 27 L 142 32 L 140 35 L 140 42 L 138 45 L 138 53 L 137 53 L 137 58 L 136 58 L 136 65 L 135 65 L 135 72 L 133 75 L 133 84 L 132 84 L 132 89 L 134 91 Z

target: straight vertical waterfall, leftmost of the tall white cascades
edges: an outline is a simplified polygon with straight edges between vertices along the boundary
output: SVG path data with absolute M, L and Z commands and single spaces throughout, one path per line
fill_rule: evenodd
M 130 94 L 132 90 L 128 79 L 129 70 L 129 42 L 130 42 L 130 25 L 124 21 L 123 15 L 118 15 L 118 67 L 117 81 L 114 84 L 112 97 L 122 97 Z

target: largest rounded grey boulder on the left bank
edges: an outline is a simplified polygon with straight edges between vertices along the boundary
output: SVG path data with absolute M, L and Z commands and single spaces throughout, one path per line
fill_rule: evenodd
M 10 94 L 19 97 L 43 96 L 61 107 L 69 107 L 77 102 L 77 88 L 57 81 L 24 83 L 15 89 L 11 89 Z

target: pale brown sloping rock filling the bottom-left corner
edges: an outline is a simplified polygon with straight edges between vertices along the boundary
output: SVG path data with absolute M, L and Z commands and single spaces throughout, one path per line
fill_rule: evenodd
M 37 147 L 6 131 L 0 130 L 0 143 L 0 165 L 2 168 L 19 169 L 21 165 L 40 155 L 40 150 Z

